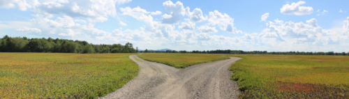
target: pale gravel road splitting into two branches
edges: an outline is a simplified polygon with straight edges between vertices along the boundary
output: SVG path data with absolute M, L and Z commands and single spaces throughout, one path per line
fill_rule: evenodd
M 138 76 L 103 98 L 237 98 L 239 94 L 237 83 L 229 79 L 232 72 L 228 68 L 241 58 L 181 69 L 129 57 L 140 67 Z

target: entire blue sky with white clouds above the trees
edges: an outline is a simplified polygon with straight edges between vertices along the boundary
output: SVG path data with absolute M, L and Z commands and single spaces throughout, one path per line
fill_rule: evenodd
M 0 0 L 0 38 L 140 50 L 349 52 L 348 0 Z

